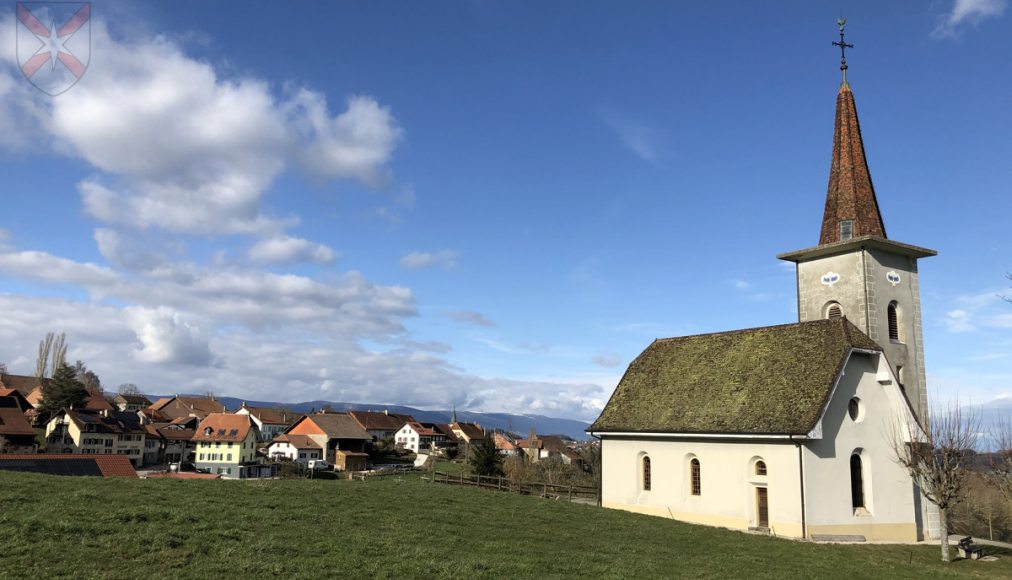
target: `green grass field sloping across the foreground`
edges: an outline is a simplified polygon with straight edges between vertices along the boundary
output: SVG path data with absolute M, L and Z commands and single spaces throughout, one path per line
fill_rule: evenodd
M 948 578 L 934 546 L 827 546 L 423 483 L 0 472 L 0 577 Z

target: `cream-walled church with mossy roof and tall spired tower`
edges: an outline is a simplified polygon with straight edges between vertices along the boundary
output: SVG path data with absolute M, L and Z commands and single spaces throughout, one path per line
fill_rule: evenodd
M 843 42 L 841 51 L 849 48 Z M 845 54 L 844 54 L 845 57 Z M 928 417 L 917 260 L 889 239 L 841 60 L 798 322 L 655 340 L 588 431 L 604 507 L 798 538 L 912 542 L 934 506 L 896 462 Z

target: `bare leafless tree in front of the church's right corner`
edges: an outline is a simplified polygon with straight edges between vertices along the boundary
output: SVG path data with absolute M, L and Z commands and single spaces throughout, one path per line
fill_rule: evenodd
M 948 510 L 963 500 L 980 425 L 978 412 L 955 402 L 933 415 L 926 429 L 908 416 L 906 428 L 897 430 L 897 460 L 924 497 L 938 507 L 942 562 L 949 561 Z M 900 436 L 904 431 L 910 436 Z

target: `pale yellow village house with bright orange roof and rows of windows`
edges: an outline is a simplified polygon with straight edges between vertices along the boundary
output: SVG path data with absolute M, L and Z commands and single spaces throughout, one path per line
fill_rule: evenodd
M 248 415 L 210 413 L 193 433 L 196 468 L 225 479 L 260 477 L 256 424 Z

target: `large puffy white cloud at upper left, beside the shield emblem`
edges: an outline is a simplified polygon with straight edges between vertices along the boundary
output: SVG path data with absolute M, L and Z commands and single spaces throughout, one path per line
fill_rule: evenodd
M 14 28 L 9 17 L 3 24 Z M 92 50 L 102 58 L 73 98 L 45 97 L 5 67 L 0 129 L 9 131 L 0 131 L 0 146 L 49 143 L 94 166 L 100 173 L 79 190 L 85 211 L 107 224 L 277 234 L 297 220 L 271 216 L 260 201 L 286 166 L 374 185 L 403 135 L 371 97 L 351 97 L 335 114 L 320 93 L 276 95 L 263 80 L 221 75 L 165 37 L 113 38 L 98 18 Z

